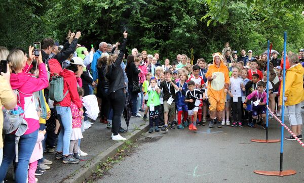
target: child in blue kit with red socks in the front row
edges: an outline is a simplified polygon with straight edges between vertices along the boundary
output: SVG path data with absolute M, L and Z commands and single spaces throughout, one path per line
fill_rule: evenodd
M 186 121 L 188 117 L 188 108 L 187 104 L 185 103 L 186 98 L 186 91 L 187 91 L 187 83 L 186 80 L 188 79 L 187 74 L 181 73 L 180 74 L 180 81 L 176 83 L 179 90 L 176 93 L 176 108 L 177 108 L 177 129 L 184 129 L 181 124 L 181 115 L 183 114 L 183 120 Z M 184 122 L 186 124 L 186 122 Z M 185 125 L 186 126 L 186 125 Z

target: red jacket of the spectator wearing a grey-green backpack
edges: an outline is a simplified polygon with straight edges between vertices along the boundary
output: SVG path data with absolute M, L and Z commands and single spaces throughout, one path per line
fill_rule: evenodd
M 81 108 L 82 101 L 77 91 L 76 74 L 70 70 L 63 69 L 63 72 L 60 72 L 60 76 L 63 77 L 63 94 L 66 93 L 66 90 L 68 90 L 68 93 L 61 102 L 54 102 L 54 106 L 59 104 L 62 107 L 71 107 L 71 102 L 73 102 L 78 108 Z

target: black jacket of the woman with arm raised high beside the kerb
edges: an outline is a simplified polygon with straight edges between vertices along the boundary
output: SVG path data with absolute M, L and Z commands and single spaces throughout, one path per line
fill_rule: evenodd
M 125 88 L 125 81 L 124 81 L 124 71 L 121 67 L 121 63 L 123 61 L 125 52 L 126 52 L 126 44 L 127 38 L 124 38 L 122 43 L 122 48 L 119 52 L 119 55 L 115 62 L 113 62 L 108 68 L 106 72 L 106 77 L 109 80 L 109 89 L 108 94 L 113 91 L 117 91 L 119 89 Z

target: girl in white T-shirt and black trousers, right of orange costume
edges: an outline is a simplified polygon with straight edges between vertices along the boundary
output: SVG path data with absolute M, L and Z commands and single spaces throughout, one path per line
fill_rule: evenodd
M 245 87 L 243 85 L 243 79 L 239 77 L 240 69 L 238 67 L 234 68 L 232 73 L 232 77 L 230 78 L 231 83 L 231 100 L 232 102 L 232 110 L 233 110 L 233 119 L 234 122 L 232 126 L 243 127 L 242 125 L 242 90 L 245 91 Z

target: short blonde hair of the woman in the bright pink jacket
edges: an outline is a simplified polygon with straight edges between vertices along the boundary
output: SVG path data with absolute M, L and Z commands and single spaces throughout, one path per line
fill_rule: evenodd
M 24 54 L 21 50 L 12 51 L 7 58 L 12 71 L 16 72 L 23 68 Z

